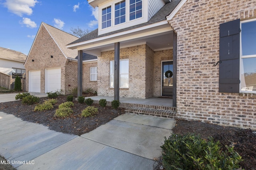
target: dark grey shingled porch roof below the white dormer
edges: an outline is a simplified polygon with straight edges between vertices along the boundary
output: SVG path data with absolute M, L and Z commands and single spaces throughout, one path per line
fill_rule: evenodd
M 135 25 L 135 26 L 131 26 L 131 27 L 128 27 L 128 28 L 123 28 L 123 29 L 116 30 L 116 31 L 113 31 L 113 32 L 109 32 L 109 33 L 102 34 L 102 35 L 98 35 L 98 29 L 96 29 L 96 30 L 86 34 L 82 38 L 80 38 L 78 40 L 75 40 L 72 43 L 69 43 L 68 45 L 75 44 L 75 43 L 80 43 L 80 42 L 85 42 L 85 41 L 88 41 L 88 40 L 92 40 L 92 39 L 100 38 L 100 37 L 105 37 L 105 36 L 109 36 L 109 35 L 120 33 L 120 32 L 125 32 L 125 31 L 132 30 L 132 29 L 135 29 L 135 28 L 140 28 L 140 27 L 143 27 L 143 26 L 147 26 L 147 25 L 150 25 L 150 24 L 155 24 L 157 22 L 164 21 L 164 20 L 166 20 L 166 16 L 170 15 L 170 13 L 180 3 L 180 1 L 181 0 L 172 0 L 172 2 L 169 2 L 169 3 L 165 4 L 154 16 L 152 16 L 152 18 L 150 18 L 150 20 L 148 22 L 138 24 L 138 25 Z

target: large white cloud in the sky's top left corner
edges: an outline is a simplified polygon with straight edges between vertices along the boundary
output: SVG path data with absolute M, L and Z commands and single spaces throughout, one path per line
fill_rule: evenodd
M 31 15 L 33 12 L 32 7 L 34 7 L 37 2 L 37 0 L 6 0 L 4 5 L 10 12 L 22 16 L 23 14 Z

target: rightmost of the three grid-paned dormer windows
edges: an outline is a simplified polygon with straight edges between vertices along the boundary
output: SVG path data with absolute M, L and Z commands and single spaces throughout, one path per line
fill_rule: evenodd
M 130 20 L 142 17 L 142 0 L 130 0 Z

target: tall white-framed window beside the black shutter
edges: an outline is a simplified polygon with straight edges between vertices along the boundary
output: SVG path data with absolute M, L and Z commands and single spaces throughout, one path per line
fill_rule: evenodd
M 256 19 L 241 21 L 240 91 L 256 93 Z

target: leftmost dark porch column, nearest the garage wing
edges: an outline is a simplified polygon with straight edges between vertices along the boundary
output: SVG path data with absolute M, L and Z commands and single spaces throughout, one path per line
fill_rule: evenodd
M 77 79 L 77 96 L 82 96 L 83 89 L 82 89 L 82 83 L 83 83 L 83 51 L 78 51 L 78 79 Z

